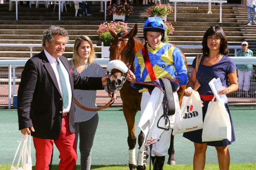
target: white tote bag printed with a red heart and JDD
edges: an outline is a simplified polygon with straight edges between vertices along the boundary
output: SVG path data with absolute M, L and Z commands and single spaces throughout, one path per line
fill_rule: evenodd
M 180 109 L 180 130 L 173 130 L 172 134 L 190 132 L 203 128 L 202 101 L 197 91 L 191 96 L 184 96 Z M 177 116 L 177 115 L 176 115 Z

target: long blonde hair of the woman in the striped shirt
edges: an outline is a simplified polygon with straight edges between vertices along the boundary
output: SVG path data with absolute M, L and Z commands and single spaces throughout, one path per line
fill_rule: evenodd
M 74 48 L 73 48 L 73 58 L 72 58 L 72 61 L 71 61 L 71 66 L 72 67 L 75 67 L 77 64 L 79 64 L 80 58 L 79 58 L 79 54 L 78 54 L 78 48 L 81 45 L 82 41 L 89 42 L 90 48 L 91 48 L 90 56 L 88 57 L 87 62 L 90 62 L 90 63 L 95 62 L 96 56 L 95 56 L 95 53 L 94 53 L 93 42 L 88 36 L 82 35 L 80 37 L 77 37 L 76 40 L 75 40 L 75 44 L 74 44 Z

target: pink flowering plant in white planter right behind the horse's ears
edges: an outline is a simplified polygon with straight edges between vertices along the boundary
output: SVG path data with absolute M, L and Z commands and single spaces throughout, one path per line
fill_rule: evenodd
M 127 26 L 127 23 L 121 21 L 111 21 L 110 23 L 104 22 L 99 25 L 97 33 L 99 35 L 99 40 L 102 42 L 102 58 L 109 57 L 109 47 L 113 42 L 113 37 L 108 31 L 108 25 L 111 26 L 111 28 L 113 28 L 116 31 L 116 33 L 119 33 L 120 31 L 127 31 L 127 29 L 129 28 Z

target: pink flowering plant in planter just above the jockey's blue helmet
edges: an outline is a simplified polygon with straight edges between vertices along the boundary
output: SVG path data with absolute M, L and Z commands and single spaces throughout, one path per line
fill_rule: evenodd
M 172 6 L 170 4 L 157 4 L 152 6 L 149 11 L 148 15 L 154 17 L 161 17 L 163 21 L 167 20 L 167 15 L 172 13 Z

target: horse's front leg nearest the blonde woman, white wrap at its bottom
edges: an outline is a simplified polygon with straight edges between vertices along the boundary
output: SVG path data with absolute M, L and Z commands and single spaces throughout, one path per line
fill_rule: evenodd
M 135 156 L 135 145 L 136 145 L 136 136 L 135 136 L 135 115 L 136 111 L 129 108 L 127 104 L 123 103 L 123 112 L 125 120 L 128 127 L 128 146 L 129 146 L 129 168 L 130 170 L 135 170 L 136 168 L 136 156 Z

